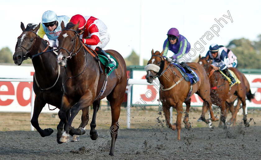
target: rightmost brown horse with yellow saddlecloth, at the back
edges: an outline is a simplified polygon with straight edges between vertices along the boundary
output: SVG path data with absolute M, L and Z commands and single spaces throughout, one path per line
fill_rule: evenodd
M 249 126 L 249 122 L 247 121 L 247 115 L 245 112 L 245 97 L 251 101 L 254 98 L 254 94 L 251 93 L 250 85 L 244 74 L 240 73 L 240 71 L 236 68 L 229 68 L 231 71 L 235 73 L 237 78 L 240 80 L 240 84 L 235 84 L 230 87 L 228 80 L 219 72 L 213 72 L 213 67 L 211 66 L 212 61 L 207 61 L 205 57 L 199 57 L 198 63 L 202 65 L 207 74 L 209 75 L 209 82 L 211 86 L 211 100 L 212 103 L 219 106 L 221 108 L 221 122 L 224 128 L 227 128 L 226 125 L 226 116 L 228 112 L 228 108 L 232 113 L 232 117 L 228 123 L 236 124 L 236 114 L 239 111 L 240 104 L 243 106 L 244 113 L 244 124 L 245 126 Z M 234 108 L 234 101 L 238 99 L 237 105 Z M 222 126 L 221 124 L 219 126 Z

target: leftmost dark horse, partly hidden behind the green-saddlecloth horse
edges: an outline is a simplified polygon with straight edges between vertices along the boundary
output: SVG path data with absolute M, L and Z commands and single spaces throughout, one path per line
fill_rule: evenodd
M 46 103 L 53 105 L 58 109 L 61 108 L 63 95 L 62 77 L 65 73 L 65 69 L 64 67 L 60 67 L 58 65 L 56 60 L 57 55 L 52 51 L 34 57 L 34 55 L 39 54 L 44 50 L 51 50 L 47 41 L 37 36 L 36 32 L 39 27 L 40 25 L 37 26 L 28 24 L 25 28 L 24 24 L 21 22 L 21 29 L 23 32 L 17 38 L 13 60 L 16 65 L 21 65 L 23 60 L 28 58 L 32 59 L 35 70 L 33 89 L 36 97 L 34 101 L 34 113 L 31 119 L 31 124 L 42 137 L 45 137 L 51 135 L 53 133 L 53 129 L 41 129 L 39 127 L 39 114 Z M 89 109 L 85 108 L 82 112 L 82 122 L 80 127 L 84 128 L 89 121 Z M 62 125 L 63 122 L 61 121 L 58 126 L 62 127 Z M 62 134 L 62 132 L 60 134 Z M 71 134 L 73 135 L 73 133 Z M 59 139 L 57 139 L 57 142 L 61 143 Z

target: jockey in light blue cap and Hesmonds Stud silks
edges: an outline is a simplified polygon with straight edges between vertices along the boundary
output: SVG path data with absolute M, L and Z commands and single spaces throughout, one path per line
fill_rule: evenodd
M 70 21 L 69 16 L 57 16 L 53 11 L 46 11 L 42 16 L 42 23 L 40 24 L 37 35 L 43 38 L 44 35 L 48 37 L 50 46 L 56 47 L 58 45 L 57 38 L 62 32 L 61 23 L 64 22 L 64 26 Z

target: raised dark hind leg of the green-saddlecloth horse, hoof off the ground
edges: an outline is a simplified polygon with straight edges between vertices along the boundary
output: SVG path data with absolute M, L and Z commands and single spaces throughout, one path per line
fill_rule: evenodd
M 96 140 L 98 138 L 97 130 L 95 130 L 96 127 L 96 115 L 100 108 L 100 100 L 93 102 L 93 117 L 90 124 L 91 130 L 90 130 L 90 137 L 92 140 Z

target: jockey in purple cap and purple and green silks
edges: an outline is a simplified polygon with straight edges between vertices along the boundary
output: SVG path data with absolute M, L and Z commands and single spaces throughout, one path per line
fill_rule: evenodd
M 192 72 L 190 67 L 185 64 L 187 61 L 184 58 L 184 55 L 187 54 L 190 50 L 190 43 L 188 40 L 179 34 L 179 31 L 176 28 L 171 28 L 167 33 L 168 38 L 164 41 L 163 44 L 163 57 L 168 62 L 179 63 L 179 66 L 182 66 L 185 71 L 193 75 L 193 81 L 195 84 L 197 82 L 197 76 Z M 168 50 L 172 51 L 174 54 L 172 57 L 167 58 Z

